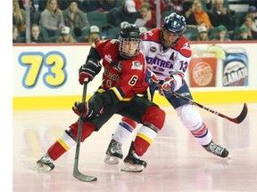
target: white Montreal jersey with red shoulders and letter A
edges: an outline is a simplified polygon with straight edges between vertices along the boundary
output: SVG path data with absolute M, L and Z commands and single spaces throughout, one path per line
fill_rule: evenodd
M 150 68 L 159 80 L 173 76 L 176 81 L 175 91 L 182 86 L 182 80 L 192 57 L 190 44 L 182 36 L 178 44 L 168 49 L 162 46 L 162 28 L 153 28 L 142 35 L 141 52 L 145 56 L 147 67 Z

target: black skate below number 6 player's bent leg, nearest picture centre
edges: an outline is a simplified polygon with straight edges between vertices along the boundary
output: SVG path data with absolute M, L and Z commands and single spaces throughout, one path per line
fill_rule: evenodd
M 146 162 L 140 160 L 137 154 L 135 153 L 134 142 L 131 142 L 129 148 L 129 154 L 124 159 L 124 165 L 121 168 L 123 172 L 142 172 L 146 167 Z

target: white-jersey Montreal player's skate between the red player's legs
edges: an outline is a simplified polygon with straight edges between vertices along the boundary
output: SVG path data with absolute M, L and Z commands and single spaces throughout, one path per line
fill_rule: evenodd
M 104 159 L 104 162 L 106 164 L 119 164 L 119 159 L 122 159 L 122 157 L 123 154 L 121 150 L 121 144 L 116 140 L 111 140 L 106 150 L 106 157 Z

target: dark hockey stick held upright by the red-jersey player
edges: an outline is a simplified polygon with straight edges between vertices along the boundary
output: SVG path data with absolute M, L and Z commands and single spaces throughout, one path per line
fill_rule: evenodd
M 87 84 L 88 84 L 88 78 L 86 78 L 84 82 L 82 102 L 86 101 Z M 97 180 L 97 178 L 94 176 L 88 176 L 79 172 L 79 148 L 80 148 L 82 123 L 83 123 L 82 116 L 83 114 L 81 113 L 81 115 L 79 116 L 79 129 L 78 129 L 77 146 L 76 146 L 76 153 L 75 153 L 75 160 L 74 160 L 74 167 L 73 167 L 73 176 L 78 180 L 81 180 L 84 182 L 90 182 L 90 181 Z

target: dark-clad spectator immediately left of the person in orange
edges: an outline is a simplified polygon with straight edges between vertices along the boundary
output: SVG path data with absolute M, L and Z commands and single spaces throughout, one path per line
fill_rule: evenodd
M 182 8 L 181 15 L 186 19 L 187 28 L 197 28 L 198 23 L 193 13 L 195 12 L 195 4 L 192 1 L 185 1 L 182 4 Z

